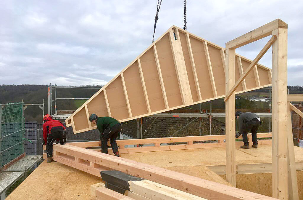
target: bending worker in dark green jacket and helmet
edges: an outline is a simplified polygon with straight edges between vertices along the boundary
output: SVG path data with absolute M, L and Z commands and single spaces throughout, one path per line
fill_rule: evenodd
M 101 152 L 108 154 L 107 141 L 110 139 L 114 155 L 120 157 L 116 143 L 116 138 L 122 129 L 120 122 L 112 117 L 98 117 L 96 114 L 91 114 L 89 121 L 96 124 L 100 131 Z

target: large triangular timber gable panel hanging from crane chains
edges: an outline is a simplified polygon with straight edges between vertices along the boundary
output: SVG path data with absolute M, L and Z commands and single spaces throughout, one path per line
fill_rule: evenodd
M 236 59 L 237 79 L 252 61 Z M 256 66 L 236 93 L 271 84 L 271 69 Z M 222 98 L 224 67 L 224 48 L 172 26 L 68 117 L 67 126 L 80 133 L 96 128 L 88 120 L 93 113 L 123 122 Z

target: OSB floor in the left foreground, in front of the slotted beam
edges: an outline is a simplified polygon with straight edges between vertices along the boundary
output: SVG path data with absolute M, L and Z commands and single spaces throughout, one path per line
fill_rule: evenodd
M 6 199 L 95 200 L 90 186 L 102 179 L 59 162 L 39 165 Z

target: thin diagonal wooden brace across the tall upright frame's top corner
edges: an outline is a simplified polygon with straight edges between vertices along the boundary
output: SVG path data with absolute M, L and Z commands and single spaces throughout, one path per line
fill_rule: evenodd
M 250 63 L 248 68 L 245 70 L 245 72 L 240 76 L 240 78 L 237 80 L 235 85 L 231 88 L 229 92 L 226 92 L 226 97 L 224 100 L 228 100 L 230 97 L 231 93 L 233 93 L 239 84 L 245 79 L 245 77 L 248 75 L 248 73 L 253 69 L 253 67 L 259 62 L 259 60 L 262 58 L 262 56 L 267 52 L 267 50 L 271 47 L 271 45 L 276 41 L 277 36 L 273 35 L 271 39 L 266 43 L 266 45 L 263 47 L 263 49 L 260 51 L 260 53 L 257 55 L 257 57 Z

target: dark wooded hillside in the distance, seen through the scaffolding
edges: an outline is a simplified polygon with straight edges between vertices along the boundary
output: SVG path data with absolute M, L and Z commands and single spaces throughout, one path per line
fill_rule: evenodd
M 83 85 L 84 86 L 84 85 Z M 92 87 L 91 85 L 86 85 Z M 95 86 L 95 85 L 93 85 Z M 99 85 L 95 87 L 100 87 Z M 268 88 L 254 90 L 254 93 L 269 92 Z M 288 86 L 289 93 L 303 93 L 302 86 Z M 75 89 L 75 88 L 58 88 L 57 98 L 90 98 L 99 89 Z M 0 103 L 42 103 L 45 102 L 45 114 L 48 113 L 48 85 L 0 85 Z M 241 95 L 241 94 L 239 94 Z M 261 96 L 261 95 L 260 95 Z M 54 95 L 53 95 L 54 98 Z M 76 110 L 85 100 L 57 100 L 57 110 Z M 208 109 L 210 102 L 202 103 L 203 109 Z M 193 105 L 191 108 L 198 109 L 199 105 Z M 213 100 L 212 108 L 225 108 L 225 102 L 222 99 Z M 238 109 L 254 109 L 254 108 L 269 108 L 269 102 L 256 102 L 246 99 L 236 100 L 236 108 Z M 28 106 L 24 111 L 25 121 L 42 122 L 42 110 L 38 106 Z

